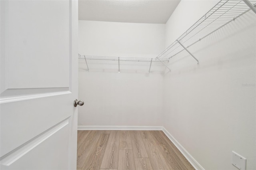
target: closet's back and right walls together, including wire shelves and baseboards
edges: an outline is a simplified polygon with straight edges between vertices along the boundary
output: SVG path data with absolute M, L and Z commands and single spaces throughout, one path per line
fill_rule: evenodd
M 163 130 L 196 169 L 256 167 L 256 0 L 181 0 L 165 24 L 79 20 L 80 130 Z M 198 19 L 200 18 L 200 19 Z

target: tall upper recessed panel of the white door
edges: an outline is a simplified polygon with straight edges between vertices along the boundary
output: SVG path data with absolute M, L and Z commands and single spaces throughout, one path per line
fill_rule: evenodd
M 69 87 L 70 2 L 4 5 L 6 89 Z

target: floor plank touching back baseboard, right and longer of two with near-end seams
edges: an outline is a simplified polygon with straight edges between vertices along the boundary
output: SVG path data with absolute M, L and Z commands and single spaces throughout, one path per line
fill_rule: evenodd
M 130 133 L 134 158 L 148 158 L 148 153 L 142 141 L 140 131 L 131 130 Z

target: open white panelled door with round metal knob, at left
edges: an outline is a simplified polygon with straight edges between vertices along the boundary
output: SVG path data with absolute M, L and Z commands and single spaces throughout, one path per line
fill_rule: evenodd
M 78 2 L 0 0 L 1 170 L 76 169 Z

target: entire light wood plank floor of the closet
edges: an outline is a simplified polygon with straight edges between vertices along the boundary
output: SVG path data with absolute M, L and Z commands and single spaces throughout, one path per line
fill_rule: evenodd
M 162 131 L 78 130 L 77 170 L 194 170 Z

